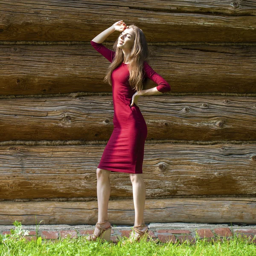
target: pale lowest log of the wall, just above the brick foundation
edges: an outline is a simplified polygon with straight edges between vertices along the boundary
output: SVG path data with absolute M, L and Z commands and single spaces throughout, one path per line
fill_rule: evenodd
M 231 223 L 256 224 L 256 198 L 166 198 L 146 199 L 144 220 L 150 222 Z M 115 225 L 134 224 L 132 199 L 110 200 L 108 220 Z M 90 202 L 0 202 L 0 225 L 15 220 L 23 225 L 90 224 L 95 225 L 97 201 Z

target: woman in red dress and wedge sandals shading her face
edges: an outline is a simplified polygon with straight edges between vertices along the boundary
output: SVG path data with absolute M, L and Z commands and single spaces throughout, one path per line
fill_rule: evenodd
M 113 45 L 115 51 L 102 42 L 114 31 L 122 32 Z M 140 241 L 148 234 L 144 222 L 145 184 L 142 164 L 147 125 L 140 108 L 139 96 L 157 95 L 171 90 L 170 85 L 147 63 L 148 46 L 143 31 L 134 24 L 126 26 L 119 20 L 101 32 L 91 45 L 111 64 L 104 81 L 112 85 L 113 92 L 113 133 L 102 154 L 97 173 L 98 222 L 89 241 L 110 240 L 111 224 L 108 221 L 108 201 L 110 197 L 111 172 L 129 173 L 133 186 L 135 222 L 129 241 Z M 151 79 L 158 85 L 142 90 Z

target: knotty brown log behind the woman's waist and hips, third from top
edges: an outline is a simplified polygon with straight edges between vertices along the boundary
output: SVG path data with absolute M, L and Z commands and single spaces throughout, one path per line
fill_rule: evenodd
M 142 96 L 138 106 L 147 140 L 256 140 L 256 97 Z M 2 99 L 0 121 L 0 141 L 108 140 L 113 101 L 112 96 Z

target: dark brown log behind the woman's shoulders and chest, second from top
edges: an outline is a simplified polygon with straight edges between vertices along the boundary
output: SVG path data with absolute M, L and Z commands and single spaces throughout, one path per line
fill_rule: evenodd
M 105 44 L 113 50 L 112 44 Z M 171 93 L 256 93 L 256 47 L 150 45 L 151 67 Z M 1 95 L 112 93 L 110 62 L 90 44 L 0 45 Z M 150 80 L 144 89 L 157 86 Z

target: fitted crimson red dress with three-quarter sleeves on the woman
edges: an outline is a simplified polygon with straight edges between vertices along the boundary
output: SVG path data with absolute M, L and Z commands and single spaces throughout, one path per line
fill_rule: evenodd
M 112 62 L 116 52 L 103 44 L 90 41 L 96 51 Z M 158 84 L 162 93 L 171 90 L 170 85 L 144 62 L 145 76 Z M 144 144 L 148 134 L 140 108 L 131 99 L 135 89 L 129 84 L 128 64 L 120 64 L 111 74 L 113 93 L 113 133 L 104 149 L 98 168 L 113 172 L 142 173 Z

